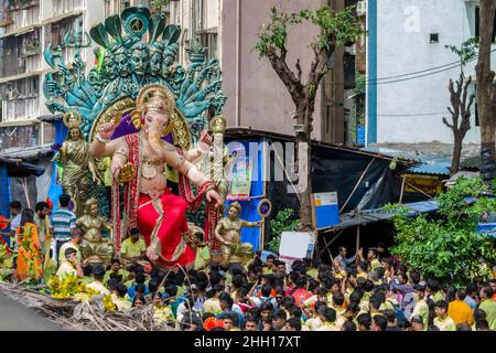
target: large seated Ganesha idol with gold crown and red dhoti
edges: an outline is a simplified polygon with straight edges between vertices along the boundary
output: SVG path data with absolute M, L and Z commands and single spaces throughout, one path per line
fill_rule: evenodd
M 170 117 L 175 100 L 172 93 L 162 85 L 143 87 L 136 101 L 137 109 L 131 114 L 138 120 L 138 132 L 111 139 L 116 124 L 103 124 L 90 146 L 94 158 L 111 158 L 110 171 L 114 179 L 112 204 L 119 204 L 119 175 L 126 174 L 123 204 L 125 215 L 114 206 L 116 236 L 123 234 L 125 227 L 138 227 L 147 243 L 147 257 L 162 269 L 190 268 L 194 264 L 195 253 L 190 247 L 190 232 L 186 223 L 186 207 L 200 204 L 203 195 L 211 206 L 218 206 L 220 196 L 214 183 L 206 178 L 190 160 L 194 158 L 162 137 L 168 133 Z M 136 119 L 138 118 L 138 119 Z M 194 153 L 193 153 L 194 154 Z M 169 165 L 180 174 L 180 190 L 185 195 L 174 195 L 166 185 L 164 168 Z M 188 188 L 197 186 L 196 196 Z M 120 236 L 119 236 L 120 237 Z M 119 247 L 120 239 L 116 239 Z

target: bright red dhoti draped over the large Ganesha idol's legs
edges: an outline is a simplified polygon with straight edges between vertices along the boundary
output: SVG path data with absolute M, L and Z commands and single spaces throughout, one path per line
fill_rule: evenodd
M 147 246 L 157 236 L 161 247 L 160 265 L 188 267 L 194 264 L 195 253 L 184 237 L 187 223 L 186 201 L 183 197 L 171 194 L 170 190 L 155 201 L 140 194 L 137 223 Z

